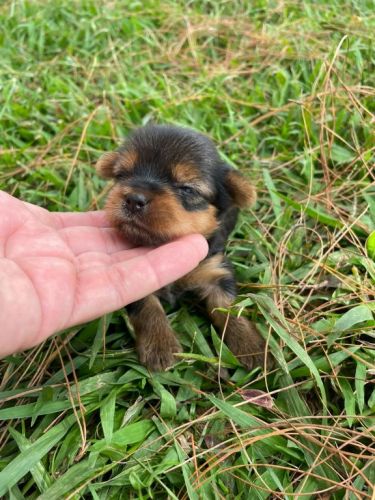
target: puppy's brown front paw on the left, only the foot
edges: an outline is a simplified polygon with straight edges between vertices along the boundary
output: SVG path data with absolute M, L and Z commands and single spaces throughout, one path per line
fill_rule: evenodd
M 171 330 L 137 338 L 139 360 L 152 372 L 164 371 L 173 366 L 176 362 L 174 355 L 181 350 L 180 343 Z

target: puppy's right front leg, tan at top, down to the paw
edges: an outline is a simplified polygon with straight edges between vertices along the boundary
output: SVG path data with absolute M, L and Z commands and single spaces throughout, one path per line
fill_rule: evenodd
M 232 268 L 222 254 L 203 261 L 183 281 L 206 301 L 210 318 L 238 360 L 249 370 L 264 365 L 266 344 L 255 326 L 246 318 L 231 316 L 217 310 L 227 309 L 236 297 Z

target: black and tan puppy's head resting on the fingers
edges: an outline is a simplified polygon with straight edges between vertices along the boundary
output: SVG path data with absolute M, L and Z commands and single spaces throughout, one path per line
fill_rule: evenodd
M 210 139 L 180 127 L 137 129 L 96 168 L 115 182 L 109 219 L 134 245 L 156 246 L 191 233 L 209 238 L 223 210 L 255 199 L 254 188 L 220 159 Z

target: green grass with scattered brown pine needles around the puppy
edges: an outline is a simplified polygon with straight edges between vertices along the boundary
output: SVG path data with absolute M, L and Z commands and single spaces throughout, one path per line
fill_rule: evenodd
M 219 377 L 220 341 L 189 303 L 168 310 L 188 354 L 164 374 L 139 365 L 121 311 L 11 356 L 0 495 L 371 498 L 374 7 L 2 3 L 0 188 L 96 209 L 106 187 L 93 165 L 128 130 L 206 132 L 258 188 L 228 244 L 234 311 L 278 363 L 246 373 L 223 349 Z

